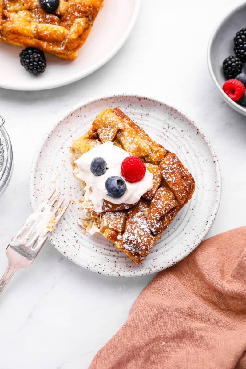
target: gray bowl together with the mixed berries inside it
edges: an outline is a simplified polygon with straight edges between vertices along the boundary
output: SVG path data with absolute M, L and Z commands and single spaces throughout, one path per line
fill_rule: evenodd
M 207 58 L 223 99 L 246 115 L 246 4 L 233 9 L 215 28 Z

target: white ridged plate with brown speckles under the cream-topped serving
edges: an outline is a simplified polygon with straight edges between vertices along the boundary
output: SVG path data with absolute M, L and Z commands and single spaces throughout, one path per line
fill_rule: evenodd
M 101 235 L 83 235 L 77 224 L 82 190 L 73 177 L 69 147 L 86 132 L 105 108 L 119 107 L 153 139 L 175 152 L 196 182 L 191 200 L 176 216 L 141 265 Z M 73 262 L 112 276 L 141 276 L 158 272 L 183 259 L 202 241 L 211 227 L 221 197 L 221 174 L 216 154 L 207 138 L 185 115 L 160 101 L 138 96 L 112 96 L 90 100 L 73 109 L 45 136 L 32 162 L 31 203 L 34 208 L 53 188 L 75 200 L 51 235 L 58 251 Z

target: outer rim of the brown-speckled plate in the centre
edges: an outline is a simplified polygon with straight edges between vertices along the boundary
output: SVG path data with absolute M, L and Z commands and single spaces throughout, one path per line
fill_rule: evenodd
M 162 100 L 159 100 L 159 99 L 156 99 L 156 98 L 152 98 L 152 97 L 149 97 L 149 96 L 142 96 L 142 95 L 139 95 L 139 94 L 129 94 L 129 93 L 122 93 L 122 94 L 115 94 L 115 95 L 114 94 L 105 94 L 103 96 L 97 96 L 97 97 L 93 97 L 93 98 L 90 98 L 90 99 L 83 100 L 81 103 L 76 104 L 72 109 L 70 109 L 69 111 L 67 111 L 67 113 L 63 114 L 61 116 L 61 118 L 52 126 L 51 130 L 49 130 L 49 132 L 44 135 L 44 137 L 42 138 L 41 144 L 38 146 L 38 148 L 37 148 L 37 150 L 36 150 L 36 152 L 34 154 L 34 157 L 32 159 L 32 164 L 31 164 L 31 169 L 30 169 L 30 176 L 29 176 L 31 206 L 35 210 L 35 203 L 34 203 L 34 198 L 35 198 L 35 196 L 34 196 L 34 177 L 32 176 L 32 173 L 35 172 L 35 168 L 37 166 L 39 155 L 40 155 L 40 153 L 41 153 L 41 151 L 42 151 L 42 149 L 43 149 L 43 147 L 45 145 L 45 142 L 47 140 L 47 137 L 51 136 L 53 130 L 55 130 L 56 126 L 62 120 L 64 120 L 65 118 L 67 118 L 70 114 L 72 114 L 77 109 L 79 109 L 79 108 L 81 108 L 83 106 L 86 106 L 88 104 L 94 103 L 96 101 L 99 101 L 99 100 L 105 100 L 105 99 L 111 99 L 111 98 L 140 98 L 140 99 L 144 99 L 144 100 L 153 101 L 153 102 L 155 102 L 157 104 L 164 104 L 167 107 L 172 108 L 174 111 L 177 111 L 177 113 L 183 115 L 183 117 L 186 118 L 190 122 L 190 124 L 193 125 L 197 129 L 197 131 L 199 131 L 200 135 L 202 136 L 202 138 L 206 142 L 206 145 L 207 145 L 209 151 L 211 152 L 212 157 L 217 161 L 217 164 L 214 167 L 215 167 L 215 172 L 216 172 L 216 183 L 217 183 L 217 187 L 220 190 L 219 190 L 219 192 L 216 192 L 214 208 L 211 211 L 211 218 L 210 218 L 211 221 L 209 223 L 207 223 L 207 224 L 204 224 L 204 230 L 201 232 L 200 238 L 197 239 L 197 242 L 195 242 L 193 249 L 186 250 L 186 252 L 183 253 L 183 256 L 177 256 L 176 263 L 178 263 L 182 259 L 186 258 L 186 256 L 188 256 L 192 251 L 194 251 L 195 248 L 197 248 L 197 246 L 204 239 L 204 237 L 207 235 L 208 231 L 212 227 L 212 224 L 214 223 L 214 220 L 215 220 L 216 215 L 218 213 L 219 204 L 220 204 L 220 201 L 221 201 L 222 178 L 221 178 L 221 169 L 220 169 L 220 166 L 219 166 L 219 161 L 218 161 L 218 158 L 216 156 L 215 150 L 214 150 L 211 142 L 207 138 L 207 136 L 201 130 L 201 128 L 197 124 L 195 124 L 194 121 L 191 120 L 191 118 L 187 114 L 182 113 L 180 110 L 177 110 L 173 106 L 171 107 L 169 104 L 164 103 Z M 52 244 L 52 241 L 50 241 L 50 242 Z M 53 246 L 59 252 L 61 252 L 60 249 L 59 249 L 59 247 L 56 247 L 56 245 L 53 245 Z M 115 277 L 118 277 L 119 276 L 118 273 L 117 273 L 117 271 L 111 272 L 110 274 L 107 274 L 107 273 L 102 272 L 101 270 L 98 270 L 97 268 L 88 267 L 88 265 L 86 265 L 86 263 L 84 263 L 84 264 L 83 263 L 78 263 L 78 262 L 76 262 L 75 258 L 70 257 L 67 254 L 64 255 L 62 253 L 62 255 L 65 256 L 70 261 L 74 262 L 75 264 L 77 264 L 79 266 L 82 266 L 82 268 L 91 270 L 92 272 L 96 272 L 96 273 L 100 273 L 100 274 L 105 274 L 105 275 L 110 275 L 110 276 L 115 276 Z M 129 274 L 129 275 L 120 275 L 120 277 L 135 277 L 135 276 L 137 277 L 137 276 L 142 276 L 142 275 L 153 274 L 153 273 L 156 273 L 156 272 L 160 272 L 161 270 L 164 270 L 166 268 L 169 268 L 172 265 L 173 265 L 173 263 L 170 261 L 170 263 L 169 264 L 166 264 L 165 266 L 163 266 L 163 268 L 162 268 L 162 266 L 160 266 L 160 268 L 157 268 L 157 269 L 155 269 L 154 271 L 151 271 L 151 272 L 149 272 L 149 271 L 147 272 L 146 271 L 146 273 L 142 273 L 142 274 L 139 274 L 139 275 L 137 273 L 135 273 L 134 275 L 132 275 L 132 274 Z

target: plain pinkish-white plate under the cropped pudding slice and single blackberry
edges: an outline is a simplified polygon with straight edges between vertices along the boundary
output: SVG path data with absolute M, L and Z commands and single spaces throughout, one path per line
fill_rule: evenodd
M 21 65 L 20 46 L 0 42 L 4 73 L 0 87 L 11 90 L 45 90 L 75 82 L 107 63 L 127 40 L 136 21 L 140 0 L 104 0 L 91 32 L 73 61 L 45 53 L 47 67 L 32 76 Z

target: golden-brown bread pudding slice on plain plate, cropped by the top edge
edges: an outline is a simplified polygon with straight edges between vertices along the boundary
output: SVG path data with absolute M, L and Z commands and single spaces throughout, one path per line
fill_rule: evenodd
M 60 0 L 52 14 L 38 0 L 0 0 L 0 41 L 32 46 L 72 60 L 90 33 L 103 0 Z

